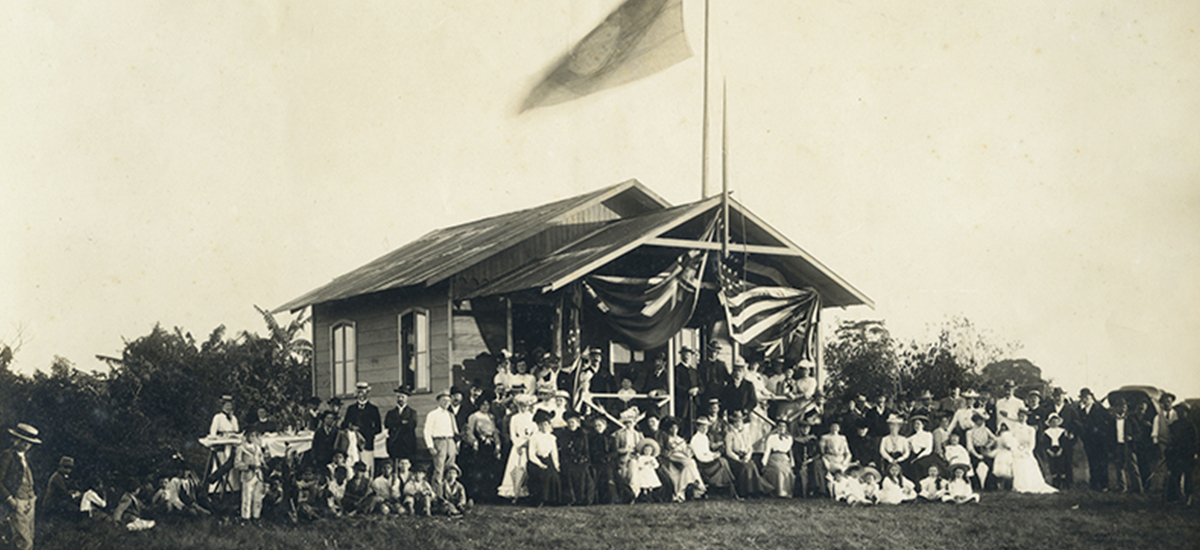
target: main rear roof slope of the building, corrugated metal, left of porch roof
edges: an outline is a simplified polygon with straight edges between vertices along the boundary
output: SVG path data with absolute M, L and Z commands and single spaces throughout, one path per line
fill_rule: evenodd
M 460 226 L 433 231 L 275 309 L 299 310 L 391 288 L 433 285 L 538 234 L 564 216 L 622 193 L 643 204 L 670 204 L 636 180 Z

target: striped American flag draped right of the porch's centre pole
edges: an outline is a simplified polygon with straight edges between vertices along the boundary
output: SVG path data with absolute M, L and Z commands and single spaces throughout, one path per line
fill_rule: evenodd
M 816 359 L 816 327 L 821 322 L 816 291 L 755 286 L 725 262 L 716 271 L 730 334 L 738 343 L 768 358 L 792 351 L 799 355 L 793 359 Z

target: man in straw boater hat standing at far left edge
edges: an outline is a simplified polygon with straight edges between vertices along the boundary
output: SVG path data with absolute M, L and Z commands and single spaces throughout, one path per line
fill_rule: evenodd
M 18 550 L 34 548 L 34 472 L 29 470 L 30 447 L 41 444 L 37 429 L 29 424 L 10 428 L 12 447 L 0 453 L 0 501 L 8 514 L 8 532 Z

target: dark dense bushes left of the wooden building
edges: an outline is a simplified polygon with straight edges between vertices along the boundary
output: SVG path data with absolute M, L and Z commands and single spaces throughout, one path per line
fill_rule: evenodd
M 286 426 L 300 422 L 299 405 L 311 391 L 312 345 L 299 337 L 307 318 L 278 324 L 258 310 L 268 335 L 244 331 L 227 337 L 217 327 L 203 343 L 181 329 L 155 325 L 125 342 L 118 358 L 100 357 L 109 372 L 84 372 L 55 358 L 49 375 L 31 377 L 7 369 L 0 345 L 0 420 L 25 422 L 44 443 L 35 471 L 49 476 L 59 456 L 73 456 L 79 473 L 139 476 L 179 454 L 203 466 L 206 435 L 220 396 L 232 394 L 235 414 L 251 422 L 258 407 Z

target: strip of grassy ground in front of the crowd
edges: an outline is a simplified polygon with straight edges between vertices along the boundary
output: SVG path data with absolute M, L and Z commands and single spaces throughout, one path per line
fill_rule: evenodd
M 829 501 L 727 501 L 530 509 L 462 519 L 350 518 L 299 527 L 216 520 L 58 530 L 38 548 L 107 549 L 1198 549 L 1200 508 L 1159 495 L 984 494 L 983 503 L 851 508 Z

